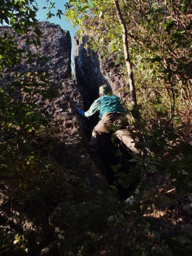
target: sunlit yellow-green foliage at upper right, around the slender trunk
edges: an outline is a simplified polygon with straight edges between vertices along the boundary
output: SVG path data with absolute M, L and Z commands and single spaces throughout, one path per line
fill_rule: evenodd
M 191 116 L 192 109 L 191 1 L 120 3 L 129 32 L 137 98 L 143 116 L 164 123 L 190 123 L 187 116 Z M 114 2 L 70 0 L 66 8 L 67 18 L 79 33 L 89 35 L 93 48 L 103 56 L 114 56 L 127 75 Z

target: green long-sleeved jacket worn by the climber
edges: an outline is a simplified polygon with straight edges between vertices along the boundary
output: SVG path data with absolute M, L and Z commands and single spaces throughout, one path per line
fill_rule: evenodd
M 100 119 L 104 113 L 115 112 L 126 115 L 126 111 L 120 102 L 120 98 L 116 95 L 104 95 L 103 97 L 97 98 L 90 109 L 84 112 L 84 116 L 90 117 L 97 112 L 99 112 Z

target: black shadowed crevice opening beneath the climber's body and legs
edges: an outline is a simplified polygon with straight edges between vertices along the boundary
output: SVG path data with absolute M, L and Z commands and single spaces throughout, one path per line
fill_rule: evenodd
M 86 135 L 88 141 L 90 140 L 92 129 L 95 127 L 98 121 L 99 120 L 97 115 L 89 119 L 84 118 L 84 134 Z M 121 146 L 121 143 L 118 139 L 115 140 L 115 143 L 112 142 L 111 136 L 112 132 L 108 134 L 102 134 L 99 150 L 96 153 L 97 156 L 92 156 L 92 158 L 95 160 L 97 167 L 102 169 L 101 171 L 103 171 L 103 174 L 108 179 L 109 184 L 116 187 L 120 198 L 127 199 L 131 192 L 135 189 L 137 181 L 132 183 L 129 188 L 125 189 L 118 183 L 118 177 L 115 175 L 120 172 L 128 174 L 131 166 L 134 163 L 129 162 L 129 160 L 132 158 L 129 151 L 125 147 Z M 121 154 L 118 152 L 121 152 Z M 119 164 L 120 168 L 118 168 L 118 171 L 115 172 L 112 166 L 119 166 Z

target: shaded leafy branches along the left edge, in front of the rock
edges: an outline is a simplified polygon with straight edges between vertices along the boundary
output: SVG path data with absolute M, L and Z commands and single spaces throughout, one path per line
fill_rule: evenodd
M 26 45 L 40 44 L 41 32 L 36 20 L 38 8 L 34 0 L 1 1 L 0 22 L 11 25 L 17 34 L 23 35 Z M 14 33 L 13 33 L 14 35 Z M 18 48 L 14 36 L 8 36 L 6 30 L 0 38 L 0 76 L 4 69 L 18 67 L 22 60 L 32 59 L 30 50 Z M 25 175 L 35 172 L 38 163 L 38 150 L 34 148 L 35 135 L 48 121 L 38 111 L 35 95 L 45 98 L 58 95 L 57 90 L 48 81 L 48 74 L 41 72 L 13 72 L 9 82 L 0 85 L 0 161 L 3 168 L 24 171 Z M 48 86 L 49 85 L 49 86 Z M 50 85 L 52 85 L 51 88 Z M 9 161 L 8 159 L 12 159 Z M 28 174 L 27 174 L 28 173 Z

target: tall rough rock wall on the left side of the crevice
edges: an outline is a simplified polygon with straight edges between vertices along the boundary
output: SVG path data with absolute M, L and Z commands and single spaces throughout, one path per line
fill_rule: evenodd
M 0 225 L 10 237 L 14 238 L 19 233 L 25 241 L 29 241 L 30 255 L 64 256 L 69 255 L 70 251 L 76 255 L 77 248 L 73 246 L 73 240 L 83 241 L 85 235 L 78 222 L 81 221 L 81 225 L 87 228 L 89 211 L 96 209 L 97 216 L 102 206 L 99 198 L 105 194 L 109 200 L 111 192 L 107 180 L 86 150 L 86 139 L 77 114 L 77 109 L 83 108 L 83 98 L 71 77 L 70 34 L 59 25 L 48 22 L 40 23 L 39 28 L 44 35 L 40 47 L 31 44 L 27 47 L 24 38 L 17 36 L 9 27 L 1 27 L 0 35 L 6 30 L 15 36 L 20 49 L 30 48 L 41 57 L 35 58 L 32 63 L 23 60 L 17 67 L 19 73 L 35 72 L 38 69 L 50 73 L 52 82 L 62 82 L 58 98 L 45 100 L 40 94 L 36 96 L 41 113 L 52 118 L 53 129 L 49 129 L 50 134 L 41 138 L 39 143 L 42 148 L 45 144 L 51 145 L 52 150 L 44 154 L 53 159 L 55 170 L 34 178 L 34 185 L 27 192 L 32 195 L 29 198 L 22 197 L 22 194 L 10 199 L 10 193 L 14 193 L 17 184 L 16 170 L 9 174 L 9 179 L 0 181 Z M 13 71 L 12 68 L 4 70 L 1 85 L 11 81 Z M 34 190 L 34 186 L 37 190 Z M 79 216 L 80 208 L 83 217 Z M 92 219 L 89 222 L 95 223 Z M 10 238 L 11 244 L 13 240 Z M 11 250 L 7 255 L 17 253 Z

